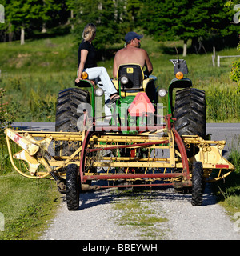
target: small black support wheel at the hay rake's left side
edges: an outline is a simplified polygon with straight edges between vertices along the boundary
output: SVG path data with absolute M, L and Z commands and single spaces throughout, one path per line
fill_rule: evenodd
M 66 206 L 68 210 L 78 210 L 80 193 L 80 178 L 78 166 L 66 166 Z

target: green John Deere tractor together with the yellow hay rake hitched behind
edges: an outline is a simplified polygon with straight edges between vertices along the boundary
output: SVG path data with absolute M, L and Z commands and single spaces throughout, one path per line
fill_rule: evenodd
M 192 205 L 200 206 L 205 183 L 225 178 L 234 166 L 222 157 L 226 142 L 206 138 L 205 92 L 184 78 L 185 60 L 170 61 L 175 78 L 167 91 L 157 90 L 156 78 L 141 66 L 119 66 L 113 83 L 120 98 L 107 106 L 107 123 L 100 83 L 85 74 L 74 88 L 61 90 L 55 132 L 6 129 L 15 170 L 54 178 L 69 210 L 78 210 L 82 192 L 110 187 L 174 186 L 191 191 Z M 22 150 L 12 154 L 9 138 Z

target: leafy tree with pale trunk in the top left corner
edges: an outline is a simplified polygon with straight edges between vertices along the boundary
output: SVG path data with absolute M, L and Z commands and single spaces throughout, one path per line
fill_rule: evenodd
M 21 31 L 21 44 L 25 42 L 25 32 L 57 27 L 67 22 L 70 11 L 64 0 L 2 0 L 5 6 L 5 24 L 0 30 L 11 35 Z

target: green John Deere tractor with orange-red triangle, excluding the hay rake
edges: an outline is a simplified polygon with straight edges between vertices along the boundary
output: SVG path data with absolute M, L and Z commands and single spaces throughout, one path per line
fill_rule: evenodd
M 113 80 L 120 99 L 109 107 L 112 126 L 154 126 L 160 125 L 163 114 L 161 98 L 168 95 L 167 114 L 175 118 L 175 128 L 180 135 L 206 135 L 205 92 L 192 88 L 192 82 L 183 75 L 188 73 L 186 61 L 170 60 L 174 64 L 174 78 L 168 92 L 157 90 L 154 76 L 146 77 L 138 64 L 119 66 L 117 79 Z M 101 122 L 97 116 L 98 98 L 104 94 L 101 84 L 84 79 L 77 87 L 61 90 L 58 94 L 56 110 L 56 131 L 75 132 L 82 130 L 83 116 L 92 122 Z M 83 88 L 89 87 L 89 90 Z M 174 98 L 174 89 L 177 90 Z M 168 93 L 168 94 L 167 94 Z M 91 95 L 91 96 L 90 96 Z M 159 97 L 158 97 L 159 96 Z M 160 98 L 160 100 L 159 100 Z M 102 102 L 102 101 L 100 101 Z M 102 110 L 102 105 L 100 106 Z M 130 134 L 136 131 L 124 131 Z M 57 149 L 58 151 L 58 149 Z

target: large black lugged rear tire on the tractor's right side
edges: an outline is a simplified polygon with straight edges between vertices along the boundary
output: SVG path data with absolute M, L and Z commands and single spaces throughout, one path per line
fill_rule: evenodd
M 186 88 L 176 92 L 174 118 L 179 135 L 206 135 L 206 99 L 205 92 L 195 88 Z

